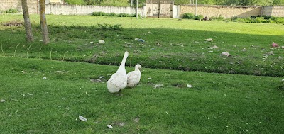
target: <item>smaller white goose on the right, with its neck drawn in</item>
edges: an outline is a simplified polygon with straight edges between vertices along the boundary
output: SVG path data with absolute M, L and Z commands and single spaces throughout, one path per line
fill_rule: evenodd
M 141 79 L 141 65 L 137 64 L 135 70 L 127 74 L 127 86 L 133 88 L 136 84 L 140 82 Z

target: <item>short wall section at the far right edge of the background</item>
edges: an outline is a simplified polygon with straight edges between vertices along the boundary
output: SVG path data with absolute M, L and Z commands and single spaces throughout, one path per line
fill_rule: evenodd
M 284 6 L 263 6 L 262 15 L 284 17 Z

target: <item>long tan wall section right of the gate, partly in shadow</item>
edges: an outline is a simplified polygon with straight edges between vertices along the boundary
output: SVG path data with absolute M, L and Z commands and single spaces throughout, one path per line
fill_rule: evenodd
M 181 5 L 180 16 L 184 13 L 195 14 L 195 5 Z M 207 6 L 197 5 L 197 15 L 224 18 L 251 17 L 261 15 L 261 6 Z

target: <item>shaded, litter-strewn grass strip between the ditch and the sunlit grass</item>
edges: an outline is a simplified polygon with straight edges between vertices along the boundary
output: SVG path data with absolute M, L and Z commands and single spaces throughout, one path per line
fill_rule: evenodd
M 23 26 L 3 26 L 1 55 L 119 65 L 121 53 L 127 50 L 135 55 L 129 58 L 131 66 L 140 63 L 149 68 L 284 75 L 284 49 L 271 48 L 272 42 L 283 44 L 283 35 L 170 28 L 102 30 L 96 25 L 50 25 L 48 28 L 51 43 L 41 45 L 40 26 L 33 27 L 36 41 L 31 44 L 25 43 Z M 146 43 L 134 38 L 143 38 Z M 206 42 L 206 38 L 214 41 Z M 98 40 L 106 43 L 99 44 Z M 212 49 L 214 45 L 219 48 Z M 222 52 L 229 52 L 232 57 L 222 56 Z

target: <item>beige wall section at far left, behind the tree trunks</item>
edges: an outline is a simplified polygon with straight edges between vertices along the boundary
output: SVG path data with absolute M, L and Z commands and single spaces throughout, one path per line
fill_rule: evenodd
M 38 13 L 38 0 L 27 0 L 27 3 L 29 13 Z M 7 9 L 17 9 L 19 12 L 22 12 L 21 0 L 0 0 L 0 10 L 5 11 Z

